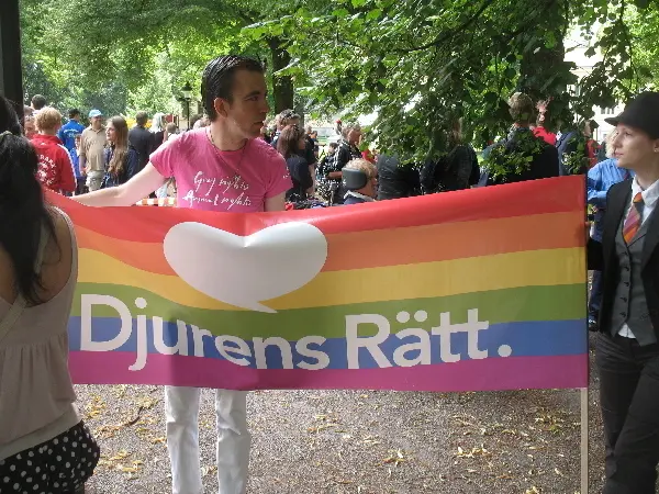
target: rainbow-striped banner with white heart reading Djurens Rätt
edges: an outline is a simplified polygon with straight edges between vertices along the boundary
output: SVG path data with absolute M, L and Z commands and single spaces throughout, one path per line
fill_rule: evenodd
M 281 213 L 60 204 L 77 383 L 588 385 L 584 184 Z

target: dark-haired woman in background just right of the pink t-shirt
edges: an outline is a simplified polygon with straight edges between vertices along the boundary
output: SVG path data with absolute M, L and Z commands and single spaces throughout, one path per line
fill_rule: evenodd
M 313 193 L 313 165 L 302 157 L 306 150 L 306 135 L 297 125 L 287 125 L 277 141 L 277 150 L 286 159 L 293 188 L 286 193 L 289 202 L 299 202 Z

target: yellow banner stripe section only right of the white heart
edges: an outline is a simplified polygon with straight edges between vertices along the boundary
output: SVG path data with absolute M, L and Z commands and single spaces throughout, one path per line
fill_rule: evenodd
M 323 272 L 303 290 L 265 305 L 300 308 L 574 283 L 585 283 L 582 247 Z

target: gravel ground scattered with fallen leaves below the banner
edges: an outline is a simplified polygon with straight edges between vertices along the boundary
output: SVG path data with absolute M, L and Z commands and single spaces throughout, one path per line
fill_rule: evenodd
M 595 381 L 592 372 L 590 493 L 601 491 L 603 475 Z M 171 492 L 163 389 L 79 385 L 77 392 L 102 448 L 87 492 Z M 248 417 L 249 493 L 580 490 L 578 391 L 261 391 L 249 394 Z M 213 493 L 217 484 L 211 391 L 202 394 L 200 428 L 205 492 Z

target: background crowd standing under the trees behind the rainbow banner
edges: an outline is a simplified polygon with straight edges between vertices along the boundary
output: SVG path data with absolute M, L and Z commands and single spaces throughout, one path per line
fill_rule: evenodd
M 338 142 L 321 150 L 317 132 L 312 126 L 302 128 L 301 116 L 293 110 L 277 114 L 271 128 L 264 122 L 259 138 L 286 159 L 292 181 L 284 198 L 288 209 L 343 205 L 348 198 L 354 204 L 585 173 L 605 159 L 605 144 L 591 137 L 591 126 L 596 124 L 585 122 L 581 130 L 569 127 L 554 133 L 546 127 L 548 104 L 539 101 L 534 105 L 526 94 L 513 94 L 509 101 L 513 119 L 510 133 L 482 151 L 482 164 L 462 133 L 461 119 L 454 121 L 446 135 L 446 153 L 422 164 L 401 162 L 398 156 L 369 149 L 361 126 L 340 121 L 336 122 Z M 66 195 L 125 183 L 144 169 L 149 156 L 165 142 L 179 135 L 176 124 L 165 122 L 163 113 L 156 113 L 148 125 L 148 115 L 138 112 L 135 125 L 129 130 L 123 116 L 113 116 L 104 124 L 103 114 L 96 109 L 89 112 L 89 126 L 85 127 L 79 110 L 71 109 L 68 122 L 60 125 L 59 112 L 46 106 L 46 99 L 38 94 L 31 106 L 25 106 L 25 135 L 40 149 L 40 180 Z M 188 127 L 198 130 L 209 124 L 208 115 L 194 115 Z M 62 146 L 69 160 L 60 151 Z M 566 157 L 574 155 L 578 158 L 568 162 Z M 523 166 L 511 167 L 513 157 Z M 351 189 L 360 181 L 348 187 L 344 180 L 343 169 L 353 160 L 359 160 L 351 166 L 358 166 L 368 190 Z M 507 162 L 507 168 L 502 170 L 502 162 Z M 150 194 L 176 195 L 174 177 Z

